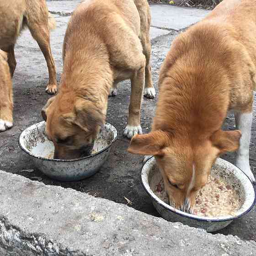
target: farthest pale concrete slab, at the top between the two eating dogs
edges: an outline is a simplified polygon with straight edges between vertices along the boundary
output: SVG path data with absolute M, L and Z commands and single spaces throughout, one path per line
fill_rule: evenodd
M 209 11 L 173 5 L 150 5 L 154 27 L 181 30 L 202 20 Z

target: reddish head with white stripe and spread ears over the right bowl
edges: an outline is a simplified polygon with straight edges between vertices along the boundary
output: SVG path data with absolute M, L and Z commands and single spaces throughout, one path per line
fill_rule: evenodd
M 216 158 L 239 147 L 239 130 L 216 131 L 208 139 L 188 140 L 157 130 L 136 135 L 128 152 L 154 155 L 163 176 L 170 205 L 192 213 L 199 190 L 207 183 Z

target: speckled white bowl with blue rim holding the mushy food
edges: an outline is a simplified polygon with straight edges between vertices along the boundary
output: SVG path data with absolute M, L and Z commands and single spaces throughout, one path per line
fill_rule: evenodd
M 255 191 L 253 184 L 248 176 L 235 165 L 218 158 L 213 165 L 212 173 L 223 176 L 229 184 L 235 186 L 239 192 L 241 205 L 235 216 L 224 216 L 216 218 L 199 217 L 177 210 L 166 204 L 152 191 L 151 187 L 155 187 L 161 179 L 160 171 L 158 171 L 155 158 L 150 158 L 141 170 L 141 181 L 145 191 L 151 197 L 152 203 L 158 213 L 166 220 L 171 222 L 181 222 L 183 224 L 205 229 L 207 232 L 214 232 L 225 228 L 234 219 L 238 219 L 244 214 L 250 212 L 255 204 Z

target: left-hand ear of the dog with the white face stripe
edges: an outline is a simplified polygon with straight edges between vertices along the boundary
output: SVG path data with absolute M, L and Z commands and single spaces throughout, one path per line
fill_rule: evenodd
M 139 155 L 164 155 L 163 148 L 169 143 L 169 136 L 163 131 L 135 135 L 128 147 L 128 152 Z

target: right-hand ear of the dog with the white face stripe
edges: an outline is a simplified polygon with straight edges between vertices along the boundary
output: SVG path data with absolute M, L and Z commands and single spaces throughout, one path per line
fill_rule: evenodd
M 222 131 L 218 130 L 213 133 L 211 140 L 213 146 L 220 150 L 220 153 L 233 152 L 239 148 L 242 133 L 239 130 Z

